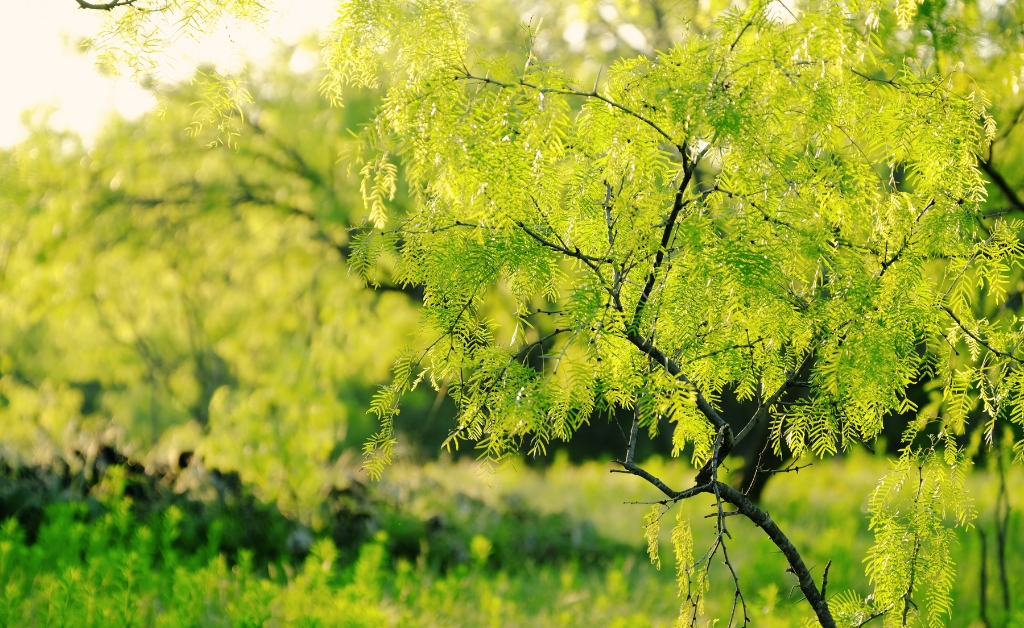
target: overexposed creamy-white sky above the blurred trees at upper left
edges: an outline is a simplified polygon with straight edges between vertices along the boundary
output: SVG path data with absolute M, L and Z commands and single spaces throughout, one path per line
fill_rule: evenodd
M 187 77 L 197 62 L 220 69 L 242 58 L 259 59 L 275 42 L 294 43 L 327 27 L 338 0 L 278 0 L 263 32 L 248 27 L 223 27 L 202 45 L 179 45 L 172 76 Z M 133 118 L 153 99 L 128 78 L 101 76 L 93 62 L 72 45 L 94 34 L 102 16 L 78 8 L 75 0 L 0 0 L 0 148 L 26 135 L 22 113 L 37 106 L 54 108 L 57 128 L 72 129 L 89 141 L 113 112 Z

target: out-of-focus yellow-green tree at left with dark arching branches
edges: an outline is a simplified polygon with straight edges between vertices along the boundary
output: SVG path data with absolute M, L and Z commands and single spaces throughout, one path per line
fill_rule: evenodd
M 37 120 L 3 160 L 9 456 L 197 449 L 286 507 L 318 499 L 416 310 L 344 264 L 362 207 L 337 156 L 372 100 L 327 108 L 292 54 L 254 77 L 238 151 L 188 136 L 182 87 L 88 150 Z

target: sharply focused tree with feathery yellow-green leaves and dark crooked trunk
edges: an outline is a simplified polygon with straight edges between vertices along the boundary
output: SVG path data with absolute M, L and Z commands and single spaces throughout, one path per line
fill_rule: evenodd
M 985 60 L 945 28 L 970 11 L 918 8 L 829 2 L 797 14 L 755 2 L 581 85 L 536 46 L 471 55 L 461 2 L 343 4 L 325 91 L 340 101 L 346 85 L 386 81 L 364 135 L 370 224 L 352 265 L 373 282 L 390 262 L 424 293 L 422 343 L 373 405 L 368 468 L 390 460 L 401 396 L 424 381 L 459 408 L 450 444 L 476 443 L 495 462 L 629 409 L 621 470 L 666 497 L 647 519 L 652 559 L 665 512 L 715 497 L 718 534 L 699 559 L 689 521 L 673 532 L 689 623 L 719 551 L 735 576 L 737 514 L 782 551 L 821 625 L 940 624 L 949 526 L 973 516 L 969 416 L 980 404 L 988 434 L 1024 423 L 1021 332 L 997 308 L 1022 249 L 1018 221 L 983 211 L 983 170 L 1015 205 L 992 175 L 1006 135 L 959 61 L 941 70 L 950 54 Z M 939 62 L 901 56 L 923 22 Z M 399 178 L 414 204 L 396 215 Z M 907 390 L 921 382 L 941 395 L 915 408 Z M 723 416 L 729 397 L 756 410 Z M 761 424 L 777 455 L 800 459 L 869 443 L 907 415 L 899 460 L 870 499 L 874 592 L 829 600 L 827 568 L 819 587 L 718 469 Z M 698 469 L 689 488 L 634 460 L 641 428 L 663 418 Z

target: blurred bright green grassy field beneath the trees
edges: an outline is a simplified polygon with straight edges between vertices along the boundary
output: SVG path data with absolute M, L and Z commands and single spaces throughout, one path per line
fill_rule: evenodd
M 647 466 L 680 486 L 691 476 L 678 461 Z M 176 542 L 174 511 L 143 525 L 124 497 L 111 499 L 101 516 L 87 516 L 74 502 L 53 504 L 34 543 L 12 521 L 0 531 L 0 625 L 672 626 L 679 599 L 671 525 L 663 530 L 665 564 L 656 570 L 642 543 L 647 508 L 627 503 L 656 496 L 610 468 L 556 461 L 544 470 L 519 466 L 483 474 L 470 463 L 398 464 L 375 490 L 402 514 L 379 519 L 380 530 L 353 559 L 327 538 L 298 561 L 261 564 L 244 550 L 226 555 L 215 542 L 185 553 Z M 768 486 L 764 507 L 814 576 L 820 578 L 831 560 L 831 592 L 870 592 L 861 562 L 871 542 L 865 504 L 885 470 L 884 460 L 855 455 L 778 475 Z M 1014 468 L 1009 479 L 1011 503 L 1018 506 L 1024 473 Z M 992 530 L 995 489 L 984 470 L 972 478 L 979 517 L 959 536 L 950 626 L 984 625 L 978 528 Z M 712 538 L 714 519 L 703 517 L 713 504 L 705 497 L 683 507 L 699 554 Z M 449 537 L 424 532 L 432 527 L 451 531 Z M 730 519 L 729 529 L 728 549 L 753 625 L 803 625 L 806 604 L 780 554 L 752 526 Z M 1022 533 L 1014 511 L 1006 551 L 1017 608 L 1024 608 L 1018 593 L 1024 591 Z M 466 539 L 461 550 L 457 537 Z M 432 557 L 442 555 L 437 544 L 444 538 L 446 558 L 438 562 Z M 1002 610 L 992 549 L 990 543 L 989 625 L 1024 625 L 1019 611 Z M 728 615 L 732 590 L 726 570 L 717 566 L 708 617 Z

